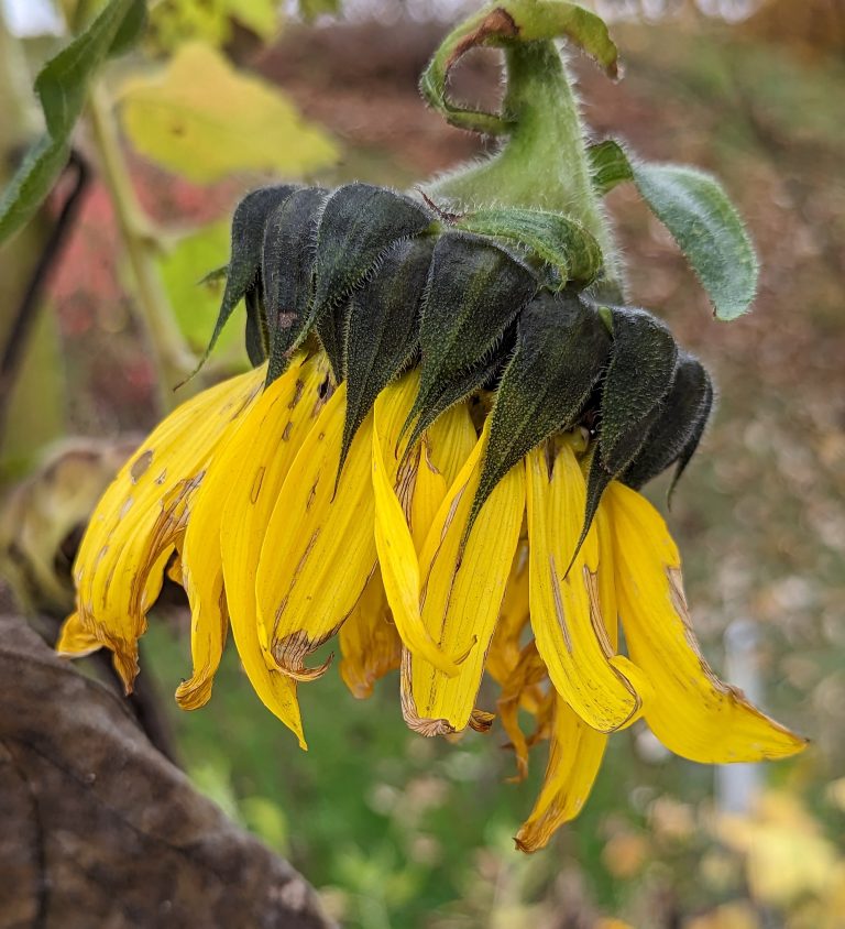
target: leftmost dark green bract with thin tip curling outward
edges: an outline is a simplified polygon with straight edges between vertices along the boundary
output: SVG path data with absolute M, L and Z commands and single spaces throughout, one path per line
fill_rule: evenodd
M 262 187 L 248 194 L 234 209 L 229 264 L 226 269 L 226 289 L 215 331 L 206 349 L 206 358 L 213 350 L 223 327 L 238 304 L 256 286 L 261 273 L 261 252 L 264 244 L 264 226 L 273 210 L 283 204 L 296 186 Z M 249 307 L 248 307 L 249 309 Z M 249 315 L 248 315 L 249 318 Z

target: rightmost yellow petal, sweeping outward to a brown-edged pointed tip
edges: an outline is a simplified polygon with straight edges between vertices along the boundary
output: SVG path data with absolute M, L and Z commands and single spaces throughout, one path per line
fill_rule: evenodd
M 753 762 L 800 752 L 805 742 L 723 684 L 692 631 L 681 559 L 660 514 L 614 482 L 605 492 L 616 561 L 616 591 L 632 659 L 655 698 L 645 715 L 672 752 L 704 764 Z

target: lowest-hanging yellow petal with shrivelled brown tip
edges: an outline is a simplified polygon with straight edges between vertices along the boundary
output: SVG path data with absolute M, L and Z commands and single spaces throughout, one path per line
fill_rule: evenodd
M 557 698 L 546 777 L 531 815 L 516 835 L 518 849 L 536 852 L 545 848 L 558 827 L 581 812 L 606 744 L 606 735 L 591 729 Z

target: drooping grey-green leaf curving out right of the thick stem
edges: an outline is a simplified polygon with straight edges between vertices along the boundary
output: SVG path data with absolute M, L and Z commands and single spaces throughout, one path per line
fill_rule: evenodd
M 671 232 L 717 319 L 747 313 L 757 293 L 759 265 L 743 220 L 722 185 L 696 168 L 648 164 L 612 140 L 593 145 L 594 183 L 601 194 L 633 181 L 649 209 Z

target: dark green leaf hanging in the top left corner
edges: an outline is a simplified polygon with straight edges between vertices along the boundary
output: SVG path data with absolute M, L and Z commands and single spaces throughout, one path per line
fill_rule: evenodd
M 109 54 L 119 54 L 143 31 L 143 0 L 111 0 L 90 25 L 51 58 L 35 78 L 46 134 L 28 152 L 0 198 L 0 242 L 34 216 L 70 154 L 70 134 L 88 85 Z

